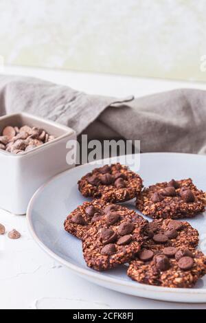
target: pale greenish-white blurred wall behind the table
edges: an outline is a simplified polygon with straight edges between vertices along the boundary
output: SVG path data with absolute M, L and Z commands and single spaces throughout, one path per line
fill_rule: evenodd
M 9 65 L 205 81 L 205 14 L 205 0 L 0 0 L 0 55 Z

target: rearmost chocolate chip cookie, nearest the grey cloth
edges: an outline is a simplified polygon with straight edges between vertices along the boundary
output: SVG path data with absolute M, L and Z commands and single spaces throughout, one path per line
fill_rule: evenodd
M 141 192 L 142 179 L 121 164 L 95 168 L 78 181 L 84 197 L 101 198 L 113 203 L 129 201 Z

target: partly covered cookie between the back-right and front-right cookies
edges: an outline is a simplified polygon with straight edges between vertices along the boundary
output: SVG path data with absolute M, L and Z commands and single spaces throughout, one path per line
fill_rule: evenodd
M 198 246 L 199 234 L 190 223 L 171 219 L 158 219 L 148 223 L 145 231 L 144 247 L 153 252 L 162 251 L 165 247 L 195 249 Z

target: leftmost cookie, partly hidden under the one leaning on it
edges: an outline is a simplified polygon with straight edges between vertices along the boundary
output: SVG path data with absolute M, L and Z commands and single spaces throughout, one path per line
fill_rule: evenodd
M 108 214 L 110 215 L 108 216 Z M 82 239 L 92 225 L 98 225 L 99 221 L 104 218 L 106 223 L 111 223 L 115 219 L 119 219 L 119 217 L 135 216 L 135 214 L 135 211 L 129 210 L 122 205 L 115 205 L 101 199 L 95 199 L 92 202 L 84 202 L 67 216 L 65 230 L 73 234 L 73 236 Z

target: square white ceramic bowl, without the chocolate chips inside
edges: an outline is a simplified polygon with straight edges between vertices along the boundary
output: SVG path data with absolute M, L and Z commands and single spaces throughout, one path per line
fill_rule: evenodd
M 69 140 L 76 140 L 73 129 L 34 115 L 17 113 L 0 118 L 0 133 L 5 126 L 23 125 L 45 129 L 56 139 L 22 155 L 0 149 L 0 208 L 14 214 L 25 214 L 32 195 L 45 181 L 75 166 L 74 161 L 68 161 L 66 148 Z

